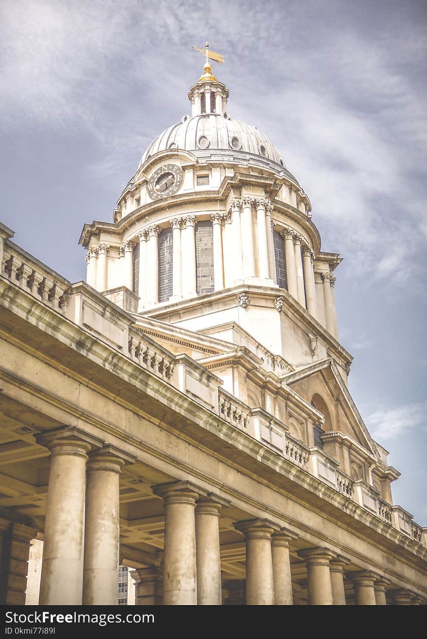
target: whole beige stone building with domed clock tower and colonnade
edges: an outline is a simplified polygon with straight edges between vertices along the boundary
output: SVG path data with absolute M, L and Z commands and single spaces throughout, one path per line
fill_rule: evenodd
M 206 61 L 84 226 L 87 282 L 0 226 L 3 601 L 116 604 L 120 564 L 136 604 L 427 600 L 427 528 L 348 390 L 341 258 L 228 96 Z

